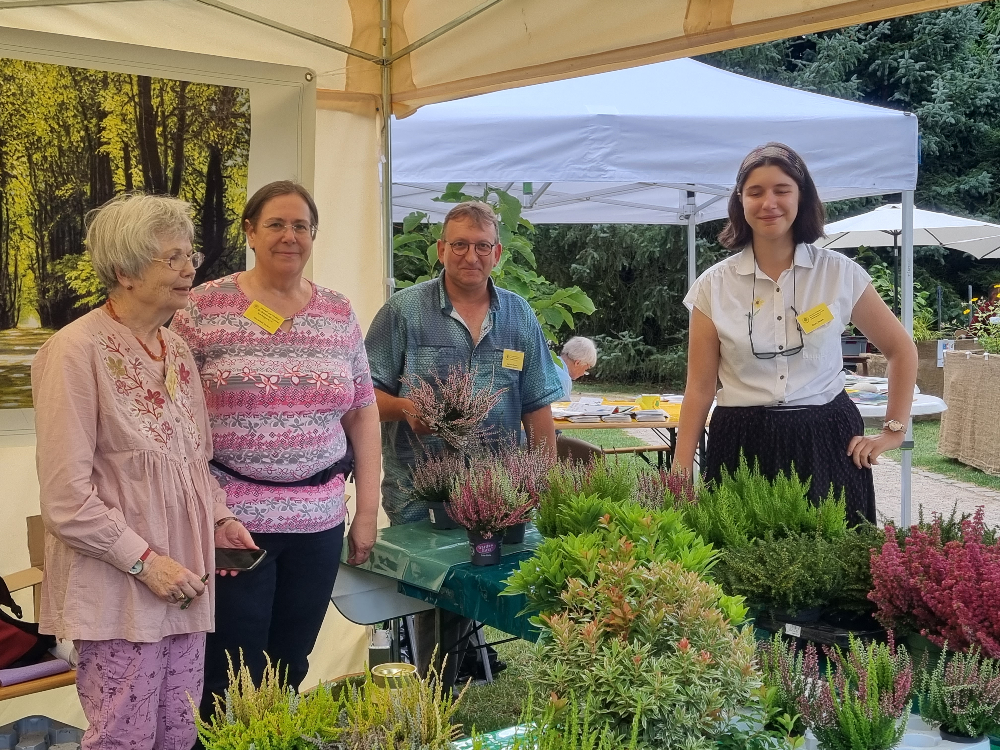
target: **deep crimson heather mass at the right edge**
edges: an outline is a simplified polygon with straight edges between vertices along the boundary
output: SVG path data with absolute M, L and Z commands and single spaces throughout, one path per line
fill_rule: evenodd
M 988 543 L 980 507 L 962 521 L 962 538 L 942 542 L 940 518 L 913 526 L 902 543 L 886 526 L 881 552 L 872 552 L 875 616 L 959 650 L 978 644 L 1000 657 L 1000 546 Z

